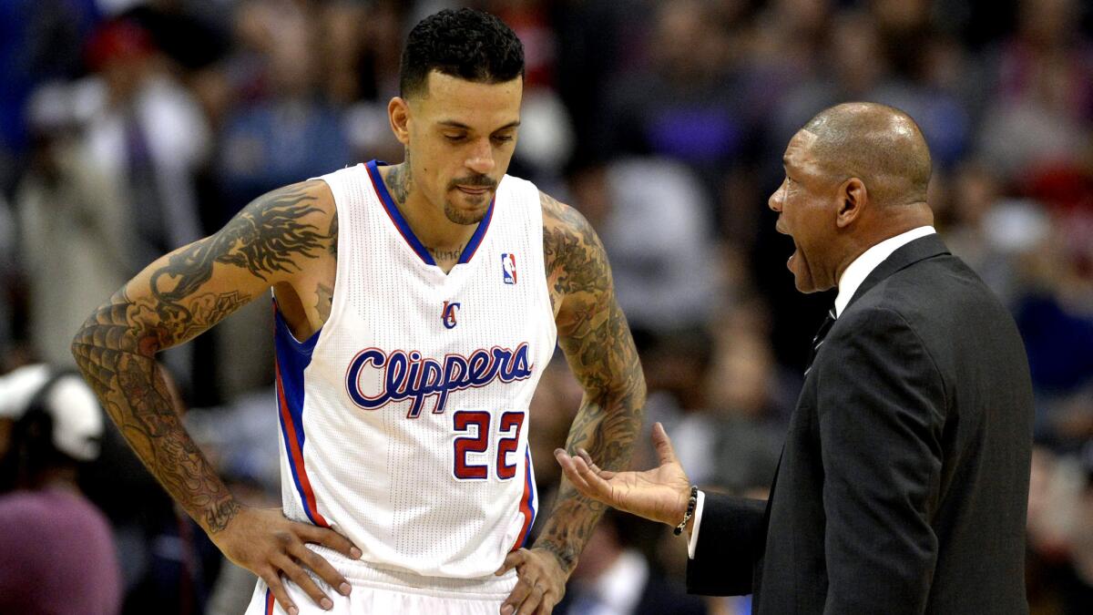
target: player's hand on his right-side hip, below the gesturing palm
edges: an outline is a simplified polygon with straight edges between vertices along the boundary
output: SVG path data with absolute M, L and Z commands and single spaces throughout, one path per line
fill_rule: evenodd
M 513 568 L 519 580 L 501 604 L 501 615 L 550 615 L 565 595 L 568 577 L 557 556 L 543 548 L 514 550 L 494 575 L 504 575 Z

